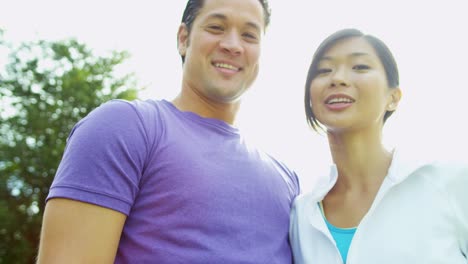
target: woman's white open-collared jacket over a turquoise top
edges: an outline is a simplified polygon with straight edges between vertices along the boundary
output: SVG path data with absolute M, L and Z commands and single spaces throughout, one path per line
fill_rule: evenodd
M 296 264 L 343 263 L 317 202 L 336 183 L 330 176 L 298 196 L 290 241 Z M 388 175 L 357 227 L 349 264 L 467 264 L 468 167 L 408 162 L 395 151 Z

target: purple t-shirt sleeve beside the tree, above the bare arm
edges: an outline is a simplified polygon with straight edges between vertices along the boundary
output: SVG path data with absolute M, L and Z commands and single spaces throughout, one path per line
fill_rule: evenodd
M 72 129 L 47 200 L 68 198 L 128 215 L 149 145 L 135 105 L 104 103 Z

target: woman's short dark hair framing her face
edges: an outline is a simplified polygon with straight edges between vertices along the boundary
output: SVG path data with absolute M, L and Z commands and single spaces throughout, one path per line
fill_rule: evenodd
M 309 125 L 315 131 L 323 130 L 323 127 L 320 125 L 320 122 L 315 118 L 310 102 L 310 85 L 318 74 L 318 64 L 322 59 L 323 55 L 338 41 L 353 37 L 365 39 L 374 48 L 375 52 L 377 53 L 377 56 L 379 57 L 380 61 L 384 66 L 388 87 L 397 88 L 400 84 L 397 63 L 395 61 L 395 58 L 393 57 L 392 52 L 383 41 L 372 35 L 364 34 L 361 31 L 353 28 L 342 29 L 331 34 L 324 41 L 322 41 L 322 43 L 315 51 L 314 56 L 312 58 L 312 63 L 310 64 L 309 71 L 307 73 L 307 80 L 305 84 L 304 107 L 306 119 L 307 123 L 309 123 Z M 385 113 L 384 122 L 393 114 L 393 112 L 394 111 L 387 111 Z

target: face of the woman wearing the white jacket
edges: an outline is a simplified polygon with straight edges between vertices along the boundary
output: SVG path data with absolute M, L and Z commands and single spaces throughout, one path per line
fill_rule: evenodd
M 395 110 L 399 89 L 388 87 L 385 69 L 366 39 L 336 42 L 320 59 L 310 85 L 312 111 L 327 131 L 382 127 Z

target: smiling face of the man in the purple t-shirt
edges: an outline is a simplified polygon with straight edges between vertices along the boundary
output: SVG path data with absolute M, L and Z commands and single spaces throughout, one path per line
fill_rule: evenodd
M 190 34 L 185 25 L 178 33 L 185 88 L 210 101 L 235 102 L 257 77 L 263 15 L 258 0 L 206 0 Z

